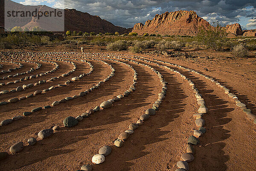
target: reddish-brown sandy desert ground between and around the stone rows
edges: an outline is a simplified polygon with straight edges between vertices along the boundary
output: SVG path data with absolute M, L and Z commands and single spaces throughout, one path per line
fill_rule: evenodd
M 20 50 L 20 49 L 19 49 Z M 36 52 L 66 51 L 61 47 L 44 47 Z M 23 49 L 32 51 L 35 49 Z M 108 53 L 100 47 L 88 47 L 85 52 Z M 163 55 L 132 54 L 130 52 L 109 52 L 117 54 L 139 55 L 148 60 L 159 59 L 178 64 L 219 81 L 230 92 L 235 93 L 241 102 L 245 103 L 252 113 L 256 113 L 256 58 L 230 58 L 229 52 L 213 52 L 209 50 L 189 51 L 196 58 L 167 58 Z M 60 55 L 61 58 L 65 57 Z M 77 58 L 73 55 L 72 58 Z M 94 57 L 96 58 L 97 55 Z M 125 58 L 125 56 L 122 56 Z M 134 59 L 142 64 L 145 61 Z M 55 61 L 52 59 L 51 61 Z M 1 120 L 21 115 L 34 107 L 52 104 L 53 101 L 67 96 L 77 95 L 105 79 L 111 72 L 110 68 L 100 61 L 88 60 L 95 70 L 69 86 L 59 87 L 49 93 L 20 100 L 0 106 Z M 81 165 L 92 164 L 94 154 L 99 148 L 110 145 L 112 153 L 105 157 L 105 162 L 92 164 L 93 171 L 174 171 L 181 154 L 186 152 L 187 138 L 193 135 L 198 104 L 191 87 L 187 82 L 175 75 L 174 72 L 150 63 L 151 67 L 159 71 L 169 82 L 166 98 L 163 100 L 157 114 L 145 121 L 125 141 L 123 147 L 113 145 L 120 133 L 128 129 L 130 123 L 136 122 L 145 110 L 151 108 L 161 90 L 159 78 L 147 67 L 129 61 L 138 72 L 136 90 L 121 101 L 115 102 L 111 108 L 85 118 L 73 128 L 65 128 L 63 120 L 67 116 L 78 116 L 88 109 L 99 106 L 101 102 L 113 99 L 115 96 L 128 90 L 133 81 L 134 72 L 126 65 L 118 62 L 103 60 L 115 68 L 116 74 L 102 84 L 99 89 L 93 90 L 86 96 L 67 101 L 51 109 L 44 109 L 25 116 L 10 125 L 0 127 L 0 151 L 9 152 L 9 148 L 18 141 L 25 142 L 24 149 L 17 154 L 0 161 L 0 171 L 76 171 Z M 120 61 L 123 61 L 120 59 Z M 1 90 L 11 90 L 23 84 L 34 83 L 41 79 L 57 77 L 73 69 L 72 64 L 56 61 L 60 69 L 52 74 L 45 75 L 21 83 L 1 86 Z M 25 72 L 35 64 L 21 62 L 24 67 L 14 71 Z M 52 70 L 53 64 L 38 61 L 42 67 L 35 71 L 40 74 Z M 89 72 L 90 67 L 81 61 L 74 61 L 76 72 L 67 77 L 47 82 L 27 90 L 0 95 L 0 101 L 7 101 L 14 97 L 26 96 L 36 90 L 44 90 L 51 86 L 64 84 L 65 81 Z M 3 64 L 3 69 L 17 67 L 15 64 Z M 169 66 L 167 64 L 167 66 Z M 171 66 L 169 66 L 171 67 Z M 244 112 L 236 106 L 224 90 L 211 81 L 180 68 L 171 67 L 187 78 L 190 78 L 202 94 L 209 113 L 204 115 L 207 123 L 207 132 L 201 136 L 200 144 L 195 146 L 195 160 L 189 162 L 190 171 L 254 171 L 256 170 L 256 124 L 247 119 Z M 34 73 L 33 73 L 34 74 Z M 6 76 L 8 74 L 0 75 Z M 17 78 L 23 78 L 24 75 Z M 15 81 L 17 78 L 1 80 L 1 82 Z M 37 133 L 46 128 L 59 125 L 47 139 L 39 139 Z M 38 142 L 34 146 L 27 144 L 27 139 L 36 137 Z

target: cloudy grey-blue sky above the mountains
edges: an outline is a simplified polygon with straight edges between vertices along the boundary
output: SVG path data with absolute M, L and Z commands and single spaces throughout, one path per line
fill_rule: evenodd
M 166 11 L 194 10 L 212 23 L 240 23 L 242 29 L 256 29 L 256 0 L 14 0 L 23 5 L 47 5 L 74 8 L 99 15 L 114 25 L 133 27 L 145 23 L 155 14 Z

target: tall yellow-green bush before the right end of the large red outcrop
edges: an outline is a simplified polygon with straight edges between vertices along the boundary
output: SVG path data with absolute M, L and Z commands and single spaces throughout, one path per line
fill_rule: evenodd
M 227 41 L 227 32 L 221 29 L 221 25 L 214 23 L 214 26 L 200 28 L 197 34 L 197 41 L 210 49 L 221 50 Z

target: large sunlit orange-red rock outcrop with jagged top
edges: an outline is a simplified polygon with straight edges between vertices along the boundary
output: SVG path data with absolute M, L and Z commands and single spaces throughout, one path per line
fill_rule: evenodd
M 207 28 L 210 24 L 194 11 L 175 11 L 157 14 L 145 24 L 136 23 L 132 32 L 138 34 L 154 33 L 161 35 L 196 35 L 200 27 Z

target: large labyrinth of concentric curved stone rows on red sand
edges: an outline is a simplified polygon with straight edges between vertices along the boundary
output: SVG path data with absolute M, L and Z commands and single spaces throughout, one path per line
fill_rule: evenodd
M 77 52 L 0 56 L 0 170 L 111 170 L 136 162 L 135 170 L 147 170 L 143 159 L 154 161 L 154 170 L 197 170 L 207 136 L 218 134 L 211 131 L 213 100 L 256 123 L 221 80 L 166 61 Z M 168 125 L 172 130 L 160 130 Z

